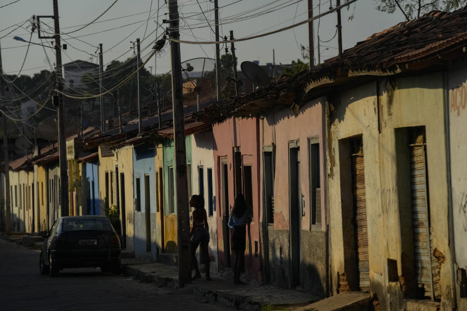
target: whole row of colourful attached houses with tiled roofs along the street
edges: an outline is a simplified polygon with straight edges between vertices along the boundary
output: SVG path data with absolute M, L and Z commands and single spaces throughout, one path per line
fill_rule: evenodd
M 231 267 L 226 224 L 242 192 L 251 283 L 465 310 L 466 26 L 466 8 L 431 12 L 310 71 L 187 107 L 188 194 L 205 198 L 211 270 Z M 171 113 L 139 135 L 130 124 L 67 140 L 70 214 L 113 207 L 123 246 L 162 262 L 177 252 Z M 10 167 L 16 230 L 47 230 L 60 216 L 56 146 Z

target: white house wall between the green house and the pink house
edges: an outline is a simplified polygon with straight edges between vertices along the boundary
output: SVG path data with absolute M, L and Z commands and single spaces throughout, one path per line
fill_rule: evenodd
M 209 225 L 209 235 L 210 242 L 209 247 L 213 251 L 215 261 L 210 263 L 211 270 L 217 270 L 217 220 L 216 220 L 216 209 L 213 210 L 213 215 L 209 215 L 209 195 L 208 195 L 208 169 L 212 169 L 212 185 L 213 185 L 213 196 L 216 196 L 216 182 L 215 182 L 215 164 L 214 164 L 214 152 L 213 152 L 213 141 L 214 136 L 212 132 L 203 132 L 198 133 L 192 136 L 192 188 L 193 194 L 197 194 L 199 191 L 199 173 L 198 167 L 202 166 L 204 168 L 203 174 L 203 184 L 204 184 L 204 193 L 199 193 L 204 197 L 204 208 L 206 209 L 206 214 L 208 215 L 208 225 Z M 198 250 L 199 251 L 199 250 Z

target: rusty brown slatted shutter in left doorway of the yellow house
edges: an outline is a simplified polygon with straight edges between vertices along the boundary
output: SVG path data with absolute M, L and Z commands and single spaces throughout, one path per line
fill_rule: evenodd
M 352 194 L 361 291 L 370 290 L 370 263 L 368 256 L 368 229 L 366 220 L 365 167 L 363 164 L 362 140 L 352 141 Z

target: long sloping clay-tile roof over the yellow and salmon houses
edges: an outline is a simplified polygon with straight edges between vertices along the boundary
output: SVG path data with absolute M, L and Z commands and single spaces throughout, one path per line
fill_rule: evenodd
M 467 7 L 433 11 L 371 35 L 312 70 L 282 77 L 268 87 L 212 104 L 197 115 L 211 123 L 226 117 L 256 117 L 283 108 L 297 110 L 308 96 L 333 88 L 417 70 L 440 70 L 445 62 L 465 57 Z M 443 57 L 441 57 L 441 55 Z M 436 67 L 438 66 L 438 67 Z

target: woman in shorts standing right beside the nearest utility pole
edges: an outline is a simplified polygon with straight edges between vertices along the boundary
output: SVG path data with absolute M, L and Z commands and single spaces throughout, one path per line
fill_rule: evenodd
M 196 249 L 201 244 L 201 256 L 204 260 L 204 267 L 206 269 L 206 280 L 211 280 L 209 269 L 209 225 L 206 210 L 204 209 L 204 199 L 198 194 L 194 194 L 190 198 L 190 207 L 195 207 L 193 211 L 193 226 L 191 227 L 191 263 L 195 269 L 194 280 L 200 279 L 198 260 L 196 259 Z

